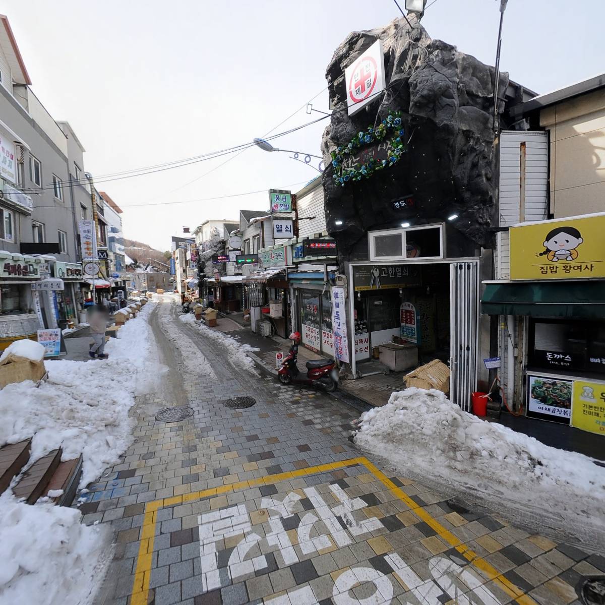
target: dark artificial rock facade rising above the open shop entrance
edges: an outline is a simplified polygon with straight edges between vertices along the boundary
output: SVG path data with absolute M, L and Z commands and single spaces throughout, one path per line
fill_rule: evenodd
M 353 32 L 336 49 L 326 71 L 335 110 L 322 137 L 322 183 L 330 235 L 344 257 L 368 230 L 402 221 L 433 223 L 458 214 L 455 226 L 477 246 L 490 246 L 496 223 L 497 155 L 492 129 L 494 68 L 450 44 L 432 40 L 414 18 L 385 28 Z M 387 92 L 352 117 L 347 114 L 345 68 L 378 38 L 385 57 Z M 501 73 L 499 98 L 508 86 Z M 504 103 L 499 103 L 502 113 Z M 341 186 L 333 179 L 330 152 L 359 131 L 400 111 L 408 151 L 369 178 Z M 413 206 L 393 202 L 413 195 Z M 336 225 L 336 221 L 342 224 Z

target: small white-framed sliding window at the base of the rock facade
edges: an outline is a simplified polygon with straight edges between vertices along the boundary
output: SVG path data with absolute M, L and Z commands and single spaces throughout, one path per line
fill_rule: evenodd
M 443 225 L 370 231 L 368 246 L 371 261 L 443 258 Z

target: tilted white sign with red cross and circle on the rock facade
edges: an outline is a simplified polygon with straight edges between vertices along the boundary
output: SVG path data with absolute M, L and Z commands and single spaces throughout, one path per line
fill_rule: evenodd
M 349 116 L 357 113 L 385 90 L 384 53 L 377 40 L 344 71 Z

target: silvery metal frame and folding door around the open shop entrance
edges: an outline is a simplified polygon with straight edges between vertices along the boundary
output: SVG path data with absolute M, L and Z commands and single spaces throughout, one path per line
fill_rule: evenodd
M 355 299 L 355 284 L 353 283 L 353 267 L 367 266 L 367 265 L 414 265 L 414 264 L 449 264 L 450 265 L 450 398 L 455 403 L 459 404 L 463 410 L 468 410 L 470 408 L 470 394 L 476 389 L 477 385 L 477 365 L 479 361 L 479 317 L 480 317 L 480 292 L 479 292 L 479 257 L 462 257 L 462 258 L 439 258 L 439 259 L 427 259 L 426 261 L 420 260 L 420 258 L 414 260 L 402 260 L 402 261 L 356 261 L 355 263 L 348 263 L 348 296 L 349 296 L 349 333 L 353 334 L 353 326 L 355 326 L 355 304 L 353 303 Z M 469 275 L 466 276 L 468 279 L 465 281 L 465 284 L 456 284 L 454 283 L 454 266 L 456 264 L 468 264 Z M 466 289 L 471 286 L 471 282 L 469 279 L 471 276 L 475 277 L 476 280 L 476 291 L 474 293 L 471 292 L 471 296 L 466 296 L 462 305 L 457 307 L 454 302 L 456 302 L 456 296 L 462 291 L 461 287 L 465 285 Z M 455 312 L 456 311 L 456 312 Z M 457 321 L 459 314 L 462 313 L 462 322 Z M 474 314 L 474 318 L 471 318 L 469 313 Z M 469 342 L 467 345 L 468 354 L 466 354 L 465 361 L 469 361 L 469 371 L 464 373 L 464 381 L 461 381 L 456 378 L 459 378 L 457 373 L 457 368 L 454 368 L 454 362 L 456 361 L 456 365 L 459 365 L 461 361 L 460 351 L 454 351 L 454 347 L 459 349 L 460 336 L 462 335 L 462 328 L 471 330 L 471 339 L 472 342 Z M 369 325 L 368 325 L 369 328 Z M 474 330 L 474 333 L 473 333 Z M 454 338 L 454 335 L 456 338 Z M 474 346 L 473 346 L 474 345 Z M 357 364 L 355 360 L 355 350 L 353 349 L 353 343 L 350 341 L 351 351 L 350 351 L 350 359 L 351 359 L 351 370 L 353 373 L 353 378 L 357 378 Z M 454 388 L 453 386 L 454 385 Z M 466 385 L 466 387 L 464 386 Z M 466 396 L 460 397 L 456 391 L 461 391 L 463 388 L 472 388 L 471 391 L 468 392 Z M 460 392 L 460 394 L 462 394 Z

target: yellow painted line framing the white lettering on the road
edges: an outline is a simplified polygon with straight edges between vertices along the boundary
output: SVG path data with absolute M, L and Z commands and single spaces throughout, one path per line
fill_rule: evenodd
M 143 518 L 143 526 L 140 534 L 139 556 L 137 557 L 137 568 L 134 574 L 134 582 L 132 583 L 131 605 L 147 605 L 149 595 L 149 579 L 151 577 L 151 563 L 154 546 L 155 523 L 157 522 L 157 511 L 163 506 L 180 505 L 184 502 L 192 502 L 202 498 L 228 494 L 241 489 L 249 489 L 258 485 L 272 485 L 280 481 L 295 479 L 296 477 L 304 477 L 316 473 L 325 473 L 334 471 L 346 466 L 361 464 L 373 474 L 376 479 L 384 483 L 387 488 L 393 492 L 400 500 L 405 502 L 413 511 L 413 513 L 428 526 L 433 528 L 437 534 L 443 538 L 448 544 L 456 548 L 474 567 L 480 569 L 489 580 L 493 580 L 498 586 L 509 595 L 514 597 L 515 602 L 519 605 L 537 605 L 535 601 L 525 595 L 523 590 L 519 589 L 511 581 L 507 580 L 500 574 L 495 567 L 489 564 L 485 559 L 479 557 L 475 552 L 462 544 L 459 538 L 451 531 L 444 528 L 435 518 L 433 518 L 424 508 L 417 505 L 401 488 L 397 487 L 388 477 L 379 471 L 370 460 L 365 457 L 351 458 L 349 460 L 341 460 L 340 462 L 330 462 L 317 466 L 309 466 L 296 471 L 286 471 L 285 473 L 276 473 L 259 477 L 258 479 L 250 479 L 237 483 L 230 483 L 217 488 L 204 489 L 202 491 L 191 492 L 189 494 L 176 495 L 171 498 L 162 500 L 153 500 L 145 504 L 145 517 Z

